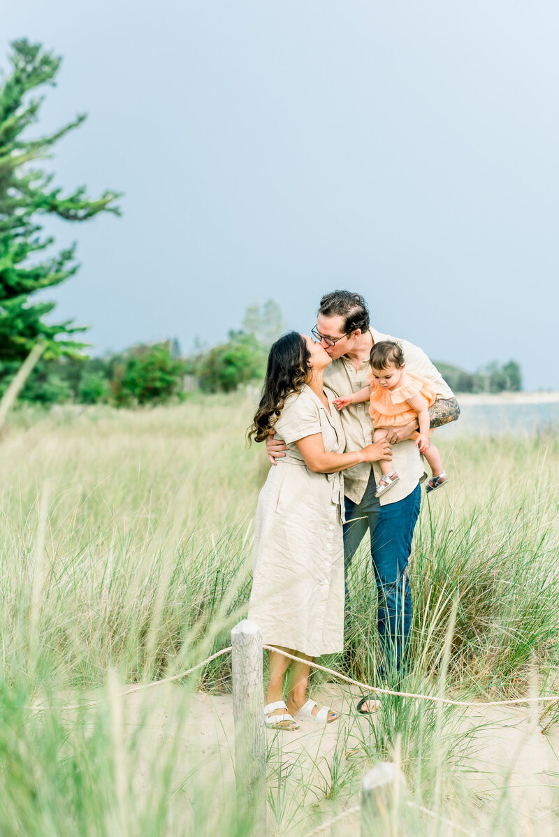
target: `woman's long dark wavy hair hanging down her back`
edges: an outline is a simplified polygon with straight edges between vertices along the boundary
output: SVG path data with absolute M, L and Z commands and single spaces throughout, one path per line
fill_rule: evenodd
M 309 373 L 309 361 L 309 348 L 297 331 L 288 331 L 274 342 L 269 350 L 262 398 L 247 434 L 249 444 L 253 436 L 257 442 L 264 442 L 278 420 L 285 398 L 290 393 L 300 393 Z

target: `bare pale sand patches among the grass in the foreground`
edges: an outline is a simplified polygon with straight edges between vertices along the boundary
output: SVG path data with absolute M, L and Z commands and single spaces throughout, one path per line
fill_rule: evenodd
M 91 696 L 91 695 L 90 695 Z M 98 696 L 98 695 L 95 695 Z M 266 731 L 269 747 L 269 786 L 287 789 L 281 804 L 288 819 L 300 805 L 324 800 L 334 785 L 331 768 L 349 770 L 352 754 L 362 752 L 359 740 L 371 735 L 369 721 L 350 711 L 351 695 L 337 686 L 323 686 L 318 695 L 341 713 L 327 727 L 309 722 L 299 732 Z M 220 800 L 233 793 L 234 733 L 232 697 L 188 694 L 177 685 L 158 686 L 121 698 L 122 719 L 128 736 L 140 730 L 136 773 L 138 793 L 149 793 L 153 767 L 171 756 L 175 763 L 172 785 L 184 787 L 185 811 L 192 793 L 209 793 L 219 833 Z M 467 732 L 469 756 L 462 763 L 464 783 L 480 799 L 480 826 L 490 821 L 495 805 L 505 804 L 513 831 L 522 835 L 556 837 L 559 834 L 559 731 L 542 735 L 537 720 L 526 711 L 506 707 L 473 707 L 459 723 Z M 174 754 L 174 755 L 173 755 Z M 362 762 L 359 763 L 362 770 Z M 353 762 L 353 769 L 356 763 Z M 281 773 L 282 783 L 278 777 Z M 338 775 L 337 780 L 341 782 Z M 291 784 L 290 784 L 291 783 Z M 300 788 L 305 792 L 299 799 Z M 192 788 L 195 788 L 192 790 Z M 196 790 L 198 788 L 198 790 Z M 505 795 L 503 795 L 505 790 Z M 354 796 L 341 807 L 358 804 Z M 359 834 L 356 816 L 344 820 L 343 834 Z

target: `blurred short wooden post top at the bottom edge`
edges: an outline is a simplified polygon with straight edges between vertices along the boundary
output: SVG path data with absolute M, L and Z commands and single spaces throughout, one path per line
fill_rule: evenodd
M 406 795 L 406 780 L 392 762 L 381 762 L 362 780 L 361 834 L 392 834 L 392 814 Z

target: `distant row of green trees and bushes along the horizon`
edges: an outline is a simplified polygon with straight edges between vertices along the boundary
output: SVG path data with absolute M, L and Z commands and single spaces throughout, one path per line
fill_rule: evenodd
M 279 307 L 268 300 L 249 306 L 238 330 L 213 347 L 182 357 L 177 340 L 131 347 L 104 357 L 71 356 L 40 360 L 20 399 L 42 403 L 106 403 L 134 407 L 179 402 L 192 389 L 202 393 L 233 393 L 244 385 L 259 386 L 271 343 L 285 331 Z M 437 362 L 455 393 L 503 393 L 521 389 L 521 368 L 515 361 L 488 364 L 466 372 Z M 0 362 L 0 394 L 18 369 L 18 362 Z

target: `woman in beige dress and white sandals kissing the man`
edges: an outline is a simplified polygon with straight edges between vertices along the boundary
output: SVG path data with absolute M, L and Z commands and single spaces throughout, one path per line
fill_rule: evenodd
M 323 383 L 330 362 L 310 337 L 295 331 L 280 337 L 270 349 L 262 398 L 249 430 L 249 439 L 263 441 L 274 427 L 288 446 L 259 495 L 249 619 L 259 625 L 265 644 L 305 660 L 270 651 L 264 723 L 271 729 L 299 729 L 301 718 L 336 720 L 336 713 L 306 701 L 306 687 L 307 661 L 343 650 L 341 471 L 390 456 L 386 439 L 343 453 L 346 440 L 332 406 L 335 393 Z

